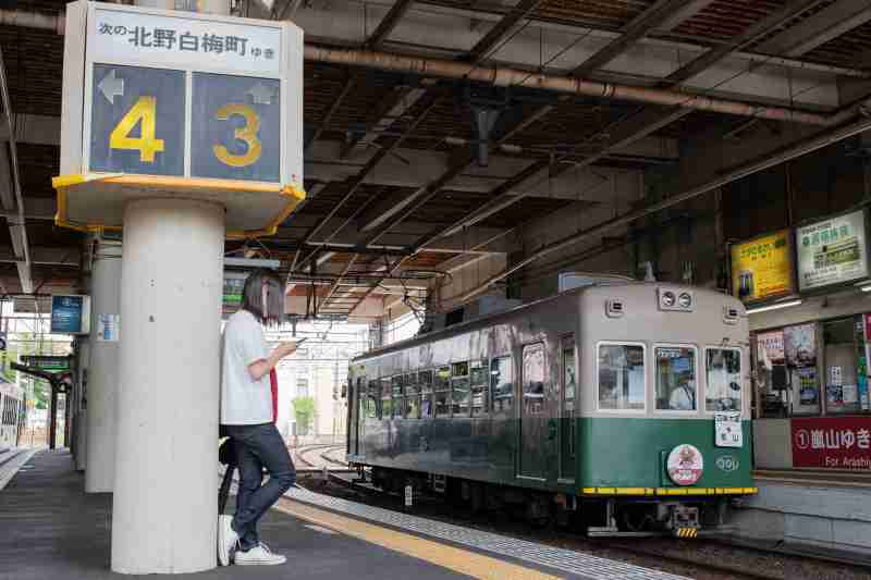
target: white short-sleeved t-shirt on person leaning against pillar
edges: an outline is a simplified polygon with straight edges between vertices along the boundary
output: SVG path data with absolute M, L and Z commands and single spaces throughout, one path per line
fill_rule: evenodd
M 221 423 L 272 422 L 269 373 L 252 379 L 248 366 L 269 358 L 263 330 L 254 314 L 240 310 L 224 325 L 221 340 Z

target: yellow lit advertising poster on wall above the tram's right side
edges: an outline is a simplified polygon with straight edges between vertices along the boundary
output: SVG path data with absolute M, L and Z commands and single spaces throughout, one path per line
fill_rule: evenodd
M 794 289 L 788 230 L 732 246 L 732 293 L 741 301 L 788 296 Z

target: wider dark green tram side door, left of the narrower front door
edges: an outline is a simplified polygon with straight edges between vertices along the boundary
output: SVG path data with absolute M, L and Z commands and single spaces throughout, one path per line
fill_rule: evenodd
M 524 347 L 520 377 L 519 461 L 522 478 L 548 479 L 548 458 L 552 457 L 552 440 L 548 433 L 548 412 L 544 390 L 544 346 Z

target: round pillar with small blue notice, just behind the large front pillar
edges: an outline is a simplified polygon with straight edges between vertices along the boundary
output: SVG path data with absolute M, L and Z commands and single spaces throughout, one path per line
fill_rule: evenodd
M 90 272 L 90 356 L 88 360 L 88 457 L 85 492 L 111 492 L 115 477 L 115 397 L 120 342 L 99 336 L 100 317 L 121 309 L 121 245 L 95 240 Z M 107 340 L 110 338 L 110 340 Z

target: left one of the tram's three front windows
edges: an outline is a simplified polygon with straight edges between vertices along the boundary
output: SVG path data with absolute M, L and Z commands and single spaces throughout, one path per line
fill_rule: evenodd
M 645 347 L 599 345 L 599 408 L 645 409 Z

